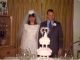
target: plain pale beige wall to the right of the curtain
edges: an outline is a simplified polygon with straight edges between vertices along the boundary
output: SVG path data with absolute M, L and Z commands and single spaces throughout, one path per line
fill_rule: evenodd
M 73 42 L 80 41 L 80 1 L 74 0 Z M 74 55 L 77 57 L 78 44 L 74 44 Z M 79 49 L 80 50 L 80 49 Z

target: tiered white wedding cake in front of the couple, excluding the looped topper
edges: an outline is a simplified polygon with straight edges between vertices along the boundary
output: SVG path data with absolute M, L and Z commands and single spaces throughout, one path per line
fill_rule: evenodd
M 49 56 L 52 54 L 52 50 L 48 47 L 48 45 L 50 44 L 50 39 L 48 38 L 46 31 L 44 31 L 44 36 L 39 39 L 39 43 L 41 44 L 41 47 L 37 49 L 39 60 L 52 60 L 49 58 Z

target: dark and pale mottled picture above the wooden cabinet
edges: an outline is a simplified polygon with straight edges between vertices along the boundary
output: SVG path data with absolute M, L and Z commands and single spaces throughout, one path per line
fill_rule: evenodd
M 0 0 L 0 15 L 7 14 L 8 14 L 7 0 Z

